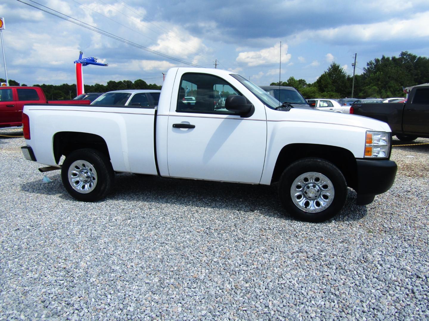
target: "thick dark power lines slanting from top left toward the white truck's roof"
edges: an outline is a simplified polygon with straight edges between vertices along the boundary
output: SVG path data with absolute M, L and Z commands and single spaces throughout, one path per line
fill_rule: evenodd
M 175 57 L 172 57 L 172 56 L 166 55 L 166 54 L 164 54 L 164 53 L 160 53 L 160 52 L 158 52 L 158 51 L 155 51 L 155 50 L 149 49 L 149 48 L 147 48 L 147 47 L 145 47 L 145 46 L 142 46 L 142 45 L 136 44 L 135 42 L 131 42 L 130 40 L 124 39 L 124 38 L 122 38 L 122 37 L 120 37 L 120 36 L 116 36 L 116 35 L 114 35 L 114 34 L 112 34 L 112 33 L 109 33 L 109 32 L 107 32 L 107 31 L 105 31 L 105 30 L 102 30 L 102 29 L 100 29 L 100 28 L 94 27 L 94 26 L 92 26 L 92 25 L 90 25 L 90 24 L 87 24 L 87 23 L 85 23 L 85 22 L 83 22 L 83 21 L 80 21 L 80 20 L 78 20 L 78 19 L 76 19 L 76 18 L 70 17 L 70 16 L 65 15 L 65 14 L 63 14 L 63 13 L 61 13 L 61 12 L 58 12 L 58 11 L 56 11 L 56 10 L 54 10 L 54 9 L 51 9 L 51 8 L 49 8 L 49 7 L 47 7 L 47 6 L 43 6 L 42 4 L 37 3 L 36 1 L 30 0 L 31 2 L 33 2 L 33 3 L 37 3 L 39 6 L 42 6 L 42 7 L 45 7 L 45 8 L 47 8 L 47 9 L 49 9 L 49 10 L 52 10 L 52 11 L 54 11 L 54 12 L 57 12 L 57 13 L 59 13 L 60 15 L 63 15 L 63 16 L 68 17 L 68 18 L 70 18 L 70 19 L 73 19 L 73 20 L 79 21 L 79 22 L 80 22 L 80 24 L 79 24 L 78 22 L 76 22 L 76 21 L 69 20 L 69 19 L 64 18 L 64 17 L 62 17 L 62 16 L 60 16 L 60 15 L 57 15 L 57 14 L 55 14 L 55 13 L 53 13 L 53 12 L 49 12 L 49 11 L 44 10 L 44 9 L 42 9 L 42 8 L 36 7 L 36 6 L 34 6 L 34 5 L 30 4 L 30 3 L 26 3 L 26 2 L 24 2 L 24 1 L 22 1 L 22 0 L 17 0 L 17 1 L 18 1 L 18 2 L 21 2 L 21 3 L 24 3 L 24 4 L 26 4 L 27 6 L 33 7 L 33 8 L 35 8 L 35 9 L 41 10 L 41 11 L 43 11 L 43 12 L 46 12 L 46 13 L 48 13 L 48 14 L 50 14 L 50 15 L 54 15 L 54 16 L 56 16 L 56 17 L 58 17 L 58 18 L 61 18 L 61 19 L 65 20 L 65 21 L 69 21 L 69 22 L 71 22 L 71 23 L 73 23 L 73 24 L 76 24 L 76 25 L 78 25 L 78 26 L 80 26 L 80 27 L 84 27 L 85 29 L 88 29 L 88 30 L 91 30 L 91 31 L 95 31 L 96 33 L 100 33 L 100 34 L 102 34 L 102 35 L 104 35 L 104 36 L 107 36 L 107 37 L 109 37 L 109 38 L 111 38 L 111 39 L 115 39 L 115 40 L 118 40 L 118 41 L 120 41 L 120 42 L 123 42 L 123 43 L 125 43 L 125 44 L 127 44 L 127 45 L 130 45 L 130 46 L 133 46 L 133 47 L 136 47 L 136 48 L 142 49 L 142 50 L 144 50 L 144 51 L 148 51 L 149 53 L 154 53 L 154 54 L 156 54 L 156 55 L 158 55 L 158 56 L 162 56 L 162 57 L 167 58 L 167 59 L 171 59 L 171 60 L 174 60 L 174 61 L 177 61 L 177 62 L 184 63 L 185 65 L 191 65 L 191 66 L 194 66 L 194 67 L 202 67 L 202 66 L 199 66 L 199 65 L 193 64 L 193 63 L 191 63 L 191 62 L 186 62 L 186 61 L 184 61 L 184 60 L 181 60 L 181 59 L 178 59 L 178 58 L 175 58 Z M 84 24 L 85 24 L 86 26 L 85 26 Z M 88 26 L 88 27 L 87 27 L 87 26 Z

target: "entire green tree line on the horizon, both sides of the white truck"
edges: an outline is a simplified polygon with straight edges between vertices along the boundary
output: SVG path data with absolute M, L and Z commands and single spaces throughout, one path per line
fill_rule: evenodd
M 5 82 L 4 79 L 0 80 Z M 320 75 L 314 83 L 307 83 L 304 79 L 289 77 L 287 81 L 271 83 L 275 86 L 292 86 L 308 98 L 344 98 L 351 97 L 353 77 L 347 74 L 335 62 Z M 375 58 L 366 64 L 363 73 L 355 75 L 353 98 L 387 98 L 405 97 L 403 87 L 415 86 L 429 82 L 429 59 L 416 56 L 408 51 L 402 51 L 399 57 Z M 10 86 L 20 86 L 15 80 L 9 80 Z M 27 86 L 22 84 L 21 86 Z M 34 85 L 42 87 L 46 98 L 50 100 L 72 99 L 76 97 L 75 84 L 62 85 Z M 85 92 L 108 92 L 123 89 L 161 89 L 156 84 L 148 84 L 137 79 L 113 81 L 106 85 L 96 83 L 85 85 Z

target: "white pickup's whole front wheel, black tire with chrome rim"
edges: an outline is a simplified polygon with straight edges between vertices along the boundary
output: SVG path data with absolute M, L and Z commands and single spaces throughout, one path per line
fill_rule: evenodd
M 302 158 L 284 170 L 278 196 L 287 213 L 297 220 L 323 222 L 344 207 L 347 184 L 344 175 L 331 162 Z

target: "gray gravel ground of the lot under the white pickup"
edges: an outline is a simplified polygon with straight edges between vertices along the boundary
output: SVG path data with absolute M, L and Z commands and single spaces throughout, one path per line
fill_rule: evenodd
M 314 224 L 267 186 L 120 174 L 77 202 L 0 137 L 0 319 L 427 320 L 429 145 L 394 144 L 393 187 Z

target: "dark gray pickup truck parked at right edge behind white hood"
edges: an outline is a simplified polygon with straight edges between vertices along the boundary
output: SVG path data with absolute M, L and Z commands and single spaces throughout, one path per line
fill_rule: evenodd
M 404 104 L 352 104 L 350 114 L 387 122 L 392 135 L 411 142 L 417 137 L 429 138 L 429 86 L 415 86 Z

